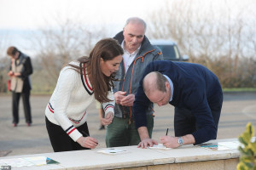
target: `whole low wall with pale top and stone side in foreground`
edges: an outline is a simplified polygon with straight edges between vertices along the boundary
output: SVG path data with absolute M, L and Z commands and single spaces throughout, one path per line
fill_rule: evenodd
M 207 143 L 227 144 L 234 147 L 238 144 L 237 139 L 218 139 Z M 59 164 L 43 166 L 30 165 L 29 167 L 17 167 L 13 164 L 12 170 L 74 170 L 74 169 L 170 169 L 170 170 L 234 170 L 239 161 L 240 152 L 236 149 L 226 150 L 219 145 L 219 150 L 209 150 L 193 144 L 183 145 L 177 149 L 141 149 L 137 146 L 116 147 L 116 150 L 125 150 L 123 153 L 101 153 L 108 149 L 78 150 L 68 152 L 43 153 L 25 156 L 7 156 L 0 159 L 3 162 L 15 163 L 18 158 L 33 158 L 39 156 L 48 157 Z M 2 162 L 2 163 L 1 163 Z

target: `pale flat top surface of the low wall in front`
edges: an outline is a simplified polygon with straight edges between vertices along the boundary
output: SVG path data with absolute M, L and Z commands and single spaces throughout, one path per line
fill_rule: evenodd
M 210 142 L 237 142 L 237 139 L 218 139 Z M 140 167 L 149 165 L 159 165 L 167 163 L 181 163 L 189 161 L 210 161 L 220 159 L 237 158 L 240 156 L 239 150 L 222 150 L 212 151 L 207 150 L 193 144 L 183 145 L 177 149 L 171 150 L 156 150 L 156 149 L 141 149 L 137 146 L 116 147 L 118 150 L 127 150 L 125 153 L 116 155 L 108 155 L 99 153 L 99 150 L 79 150 L 55 153 L 43 153 L 36 155 L 22 156 L 6 156 L 1 160 L 12 158 L 25 158 L 35 156 L 46 156 L 50 159 L 60 162 L 60 164 L 51 164 L 44 166 L 32 167 L 12 167 L 12 170 L 47 170 L 47 169 L 111 169 L 123 167 Z

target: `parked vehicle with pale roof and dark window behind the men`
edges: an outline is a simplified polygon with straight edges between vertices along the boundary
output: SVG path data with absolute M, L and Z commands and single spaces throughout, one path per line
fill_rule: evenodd
M 152 45 L 156 45 L 160 48 L 164 55 L 165 60 L 172 60 L 172 61 L 186 61 L 189 60 L 188 55 L 181 55 L 177 48 L 177 43 L 172 42 L 172 40 L 149 40 Z

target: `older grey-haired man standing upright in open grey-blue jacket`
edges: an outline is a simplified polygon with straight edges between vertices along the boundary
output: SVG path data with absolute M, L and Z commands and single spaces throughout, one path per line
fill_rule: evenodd
M 132 105 L 143 77 L 146 66 L 154 60 L 162 60 L 160 48 L 153 46 L 145 36 L 146 23 L 138 17 L 126 20 L 123 31 L 114 39 L 118 40 L 124 49 L 123 60 L 113 82 L 114 116 L 106 132 L 107 147 L 137 145 L 141 142 L 133 121 Z M 149 135 L 154 127 L 154 105 L 147 108 L 147 127 Z M 150 135 L 151 136 L 151 135 Z

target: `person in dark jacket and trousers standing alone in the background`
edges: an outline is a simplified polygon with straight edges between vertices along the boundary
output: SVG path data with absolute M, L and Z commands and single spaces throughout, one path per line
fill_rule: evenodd
M 22 54 L 18 48 L 9 47 L 7 54 L 11 59 L 11 66 L 8 76 L 11 79 L 12 91 L 12 111 L 13 111 L 13 126 L 16 127 L 19 123 L 19 102 L 20 95 L 23 101 L 23 108 L 26 118 L 26 126 L 31 126 L 32 116 L 29 102 L 30 90 L 32 89 L 30 75 L 32 74 L 32 64 L 30 57 Z

